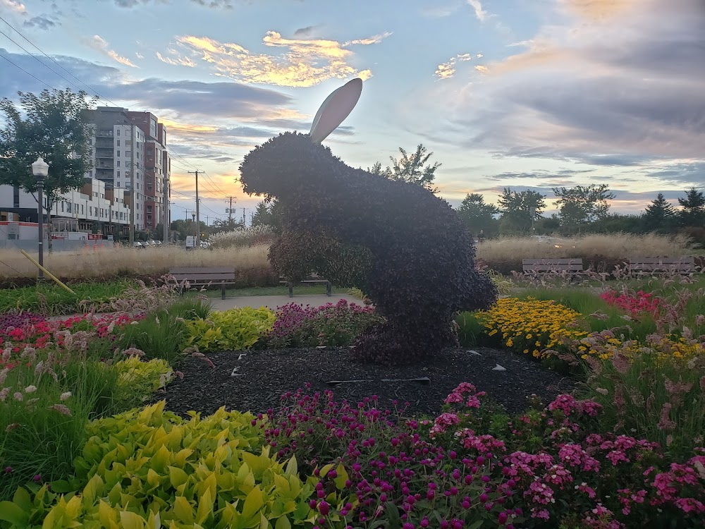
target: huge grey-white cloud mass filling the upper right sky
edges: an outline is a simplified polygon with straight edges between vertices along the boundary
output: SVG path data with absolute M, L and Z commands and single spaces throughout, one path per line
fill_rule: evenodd
M 419 92 L 415 102 L 436 119 L 419 116 L 407 126 L 505 157 L 640 171 L 668 159 L 703 160 L 702 0 L 620 2 L 590 23 L 584 17 L 609 3 L 573 4 L 592 11 L 557 11 L 528 49 L 475 66 L 484 75 Z

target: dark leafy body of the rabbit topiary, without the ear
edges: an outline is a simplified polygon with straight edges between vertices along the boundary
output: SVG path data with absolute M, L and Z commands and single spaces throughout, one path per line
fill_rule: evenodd
M 474 267 L 470 234 L 448 202 L 412 183 L 353 169 L 285 133 L 247 154 L 246 193 L 276 197 L 284 229 L 270 260 L 292 279 L 319 272 L 357 286 L 386 317 L 353 354 L 387 365 L 431 358 L 453 346 L 453 314 L 489 308 L 496 289 Z

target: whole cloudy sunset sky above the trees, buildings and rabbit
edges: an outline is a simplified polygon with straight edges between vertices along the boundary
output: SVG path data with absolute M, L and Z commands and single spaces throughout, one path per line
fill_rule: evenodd
M 225 219 L 255 145 L 308 132 L 350 166 L 422 143 L 439 195 L 606 183 L 613 212 L 705 186 L 705 0 L 0 0 L 0 97 L 47 87 L 149 110 L 168 130 L 172 218 Z M 20 69 L 21 68 L 21 69 Z M 70 82 L 70 83 L 69 83 Z M 226 205 L 228 202 L 228 205 Z

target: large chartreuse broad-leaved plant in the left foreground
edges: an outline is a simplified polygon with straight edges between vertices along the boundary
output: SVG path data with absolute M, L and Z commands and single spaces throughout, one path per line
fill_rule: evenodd
M 0 503 L 0 528 L 312 528 L 319 478 L 302 480 L 295 458 L 277 461 L 260 426 L 224 408 L 185 420 L 164 401 L 97 420 L 75 478 L 18 490 Z M 342 507 L 336 490 L 326 501 Z

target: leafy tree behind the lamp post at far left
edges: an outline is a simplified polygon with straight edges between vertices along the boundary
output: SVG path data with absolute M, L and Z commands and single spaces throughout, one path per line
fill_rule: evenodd
M 60 193 L 80 188 L 92 168 L 85 112 L 95 99 L 87 100 L 85 92 L 68 89 L 42 90 L 38 96 L 25 92 L 18 95 L 21 112 L 10 99 L 0 102 L 6 121 L 6 128 L 0 130 L 0 183 L 34 195 L 37 178 L 32 174 L 32 162 L 42 157 L 49 164 L 49 175 L 44 178 L 44 209 L 51 251 L 51 208 Z

